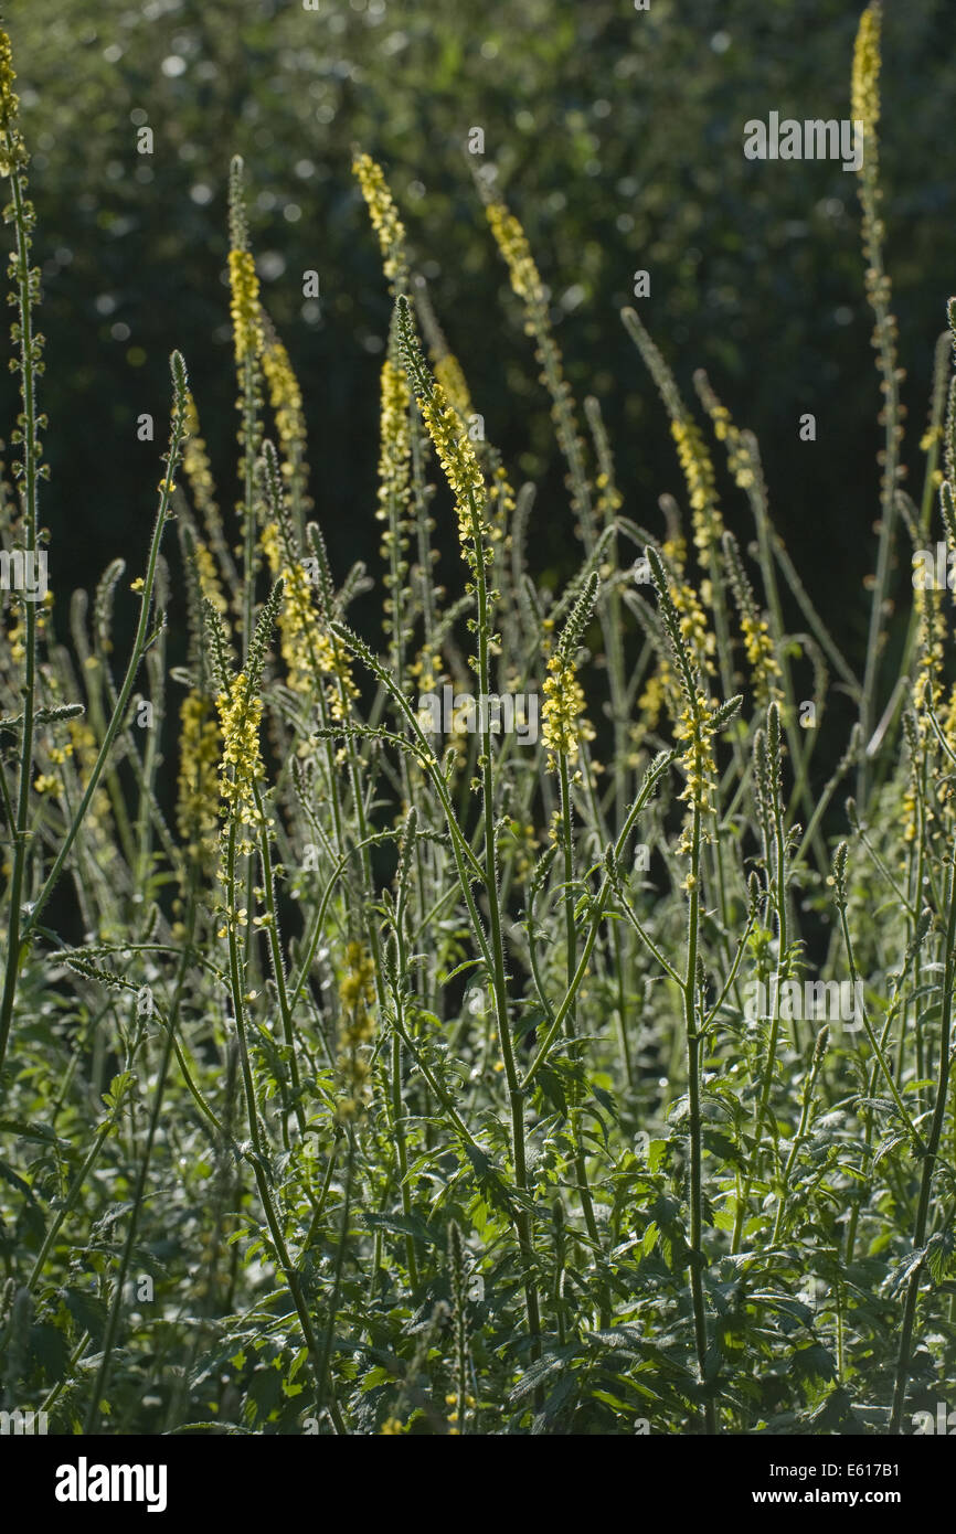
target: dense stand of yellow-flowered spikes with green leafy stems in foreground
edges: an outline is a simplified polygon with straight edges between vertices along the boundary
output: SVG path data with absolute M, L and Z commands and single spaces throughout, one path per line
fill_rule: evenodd
M 137 422 L 152 535 L 71 600 L 0 37 L 5 1410 L 57 1433 L 911 1431 L 956 1399 L 956 384 L 947 333 L 910 451 L 879 8 L 850 107 L 882 390 L 861 666 L 775 531 L 755 434 L 714 367 L 691 403 L 652 305 L 621 336 L 684 491 L 625 502 L 634 443 L 579 408 L 482 161 L 462 238 L 503 261 L 565 468 L 536 506 L 490 430 L 508 370 L 450 350 L 361 149 L 391 316 L 377 492 L 347 503 L 362 558 L 330 557 L 236 156 L 238 503 L 170 305 L 164 453 Z M 537 534 L 559 525 L 566 581 Z

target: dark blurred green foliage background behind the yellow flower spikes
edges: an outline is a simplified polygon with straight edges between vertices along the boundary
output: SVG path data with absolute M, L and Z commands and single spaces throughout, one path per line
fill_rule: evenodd
M 859 663 L 881 434 L 856 178 L 839 163 L 747 161 L 741 147 L 744 121 L 770 110 L 849 117 L 859 9 L 8 0 L 43 270 L 54 586 L 95 581 L 115 554 L 140 568 L 173 345 L 221 502 L 235 500 L 226 189 L 236 152 L 264 298 L 305 396 L 316 515 L 339 575 L 358 557 L 377 571 L 390 301 L 350 173 L 354 144 L 385 167 L 490 439 L 516 480 L 539 480 L 542 566 L 555 580 L 571 572 L 579 546 L 548 402 L 471 178 L 466 140 L 479 126 L 549 287 L 579 402 L 588 391 L 602 400 L 625 512 L 660 529 L 657 495 L 684 499 L 666 417 L 618 319 L 634 302 L 632 273 L 648 268 L 648 327 L 687 399 L 704 367 L 738 425 L 758 433 L 775 520 Z M 951 40 L 950 0 L 887 9 L 881 164 L 915 466 L 933 345 L 956 291 Z M 152 155 L 137 152 L 141 126 Z M 319 301 L 302 299 L 307 268 L 319 273 Z M 6 374 L 0 388 L 9 423 Z M 155 416 L 157 443 L 137 440 L 141 411 Z M 798 439 L 804 411 L 816 416 L 815 443 Z M 747 508 L 721 454 L 715 462 L 727 520 L 749 538 Z M 898 594 L 904 586 L 905 569 Z

